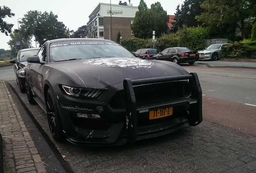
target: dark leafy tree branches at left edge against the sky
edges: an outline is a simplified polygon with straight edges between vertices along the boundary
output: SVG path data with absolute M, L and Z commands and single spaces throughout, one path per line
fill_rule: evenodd
M 12 17 L 15 14 L 11 12 L 10 8 L 3 6 L 3 8 L 0 6 L 0 31 L 8 36 L 8 33 L 12 32 L 12 26 L 13 24 L 8 24 L 7 22 L 4 22 L 3 18 Z

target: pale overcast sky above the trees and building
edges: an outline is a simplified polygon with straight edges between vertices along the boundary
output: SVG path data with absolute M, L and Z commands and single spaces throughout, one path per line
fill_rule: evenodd
M 39 12 L 52 11 L 55 15 L 58 15 L 58 21 L 63 22 L 69 30 L 76 31 L 80 26 L 86 25 L 89 21 L 89 14 L 95 9 L 99 3 L 110 4 L 110 0 L 1 0 L 0 6 L 7 6 L 11 9 L 11 12 L 15 16 L 4 18 L 7 23 L 14 24 L 12 31 L 18 29 L 18 19 L 23 18 L 30 10 L 37 10 Z M 129 0 L 122 0 L 127 2 Z M 151 4 L 157 2 L 157 0 L 144 0 L 148 8 Z M 174 15 L 177 6 L 183 4 L 184 0 L 158 0 L 163 7 L 163 10 L 167 11 L 167 14 Z M 111 4 L 118 4 L 119 0 L 111 0 Z M 132 6 L 138 6 L 140 0 L 130 0 Z M 6 36 L 0 32 L 0 48 L 9 50 L 7 42 L 10 40 L 10 36 Z M 32 42 L 32 46 L 35 47 L 35 42 Z

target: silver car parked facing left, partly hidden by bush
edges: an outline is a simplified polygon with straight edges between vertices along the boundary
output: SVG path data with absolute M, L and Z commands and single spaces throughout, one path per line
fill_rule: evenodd
M 199 60 L 218 60 L 222 56 L 221 46 L 232 45 L 230 43 L 211 44 L 208 48 L 198 51 Z

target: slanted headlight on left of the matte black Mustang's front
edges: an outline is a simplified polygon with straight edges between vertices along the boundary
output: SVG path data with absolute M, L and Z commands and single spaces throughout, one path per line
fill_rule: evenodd
M 87 97 L 87 98 L 94 99 L 102 93 L 101 89 L 81 89 L 81 88 L 68 87 L 65 85 L 62 85 L 62 88 L 64 89 L 67 95 L 74 96 L 74 97 Z

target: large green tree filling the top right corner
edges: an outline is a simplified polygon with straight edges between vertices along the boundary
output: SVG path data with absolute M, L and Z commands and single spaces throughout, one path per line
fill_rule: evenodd
M 242 39 L 248 38 L 256 20 L 255 0 L 205 0 L 201 7 L 205 11 L 196 16 L 198 21 L 217 28 L 235 26 Z

